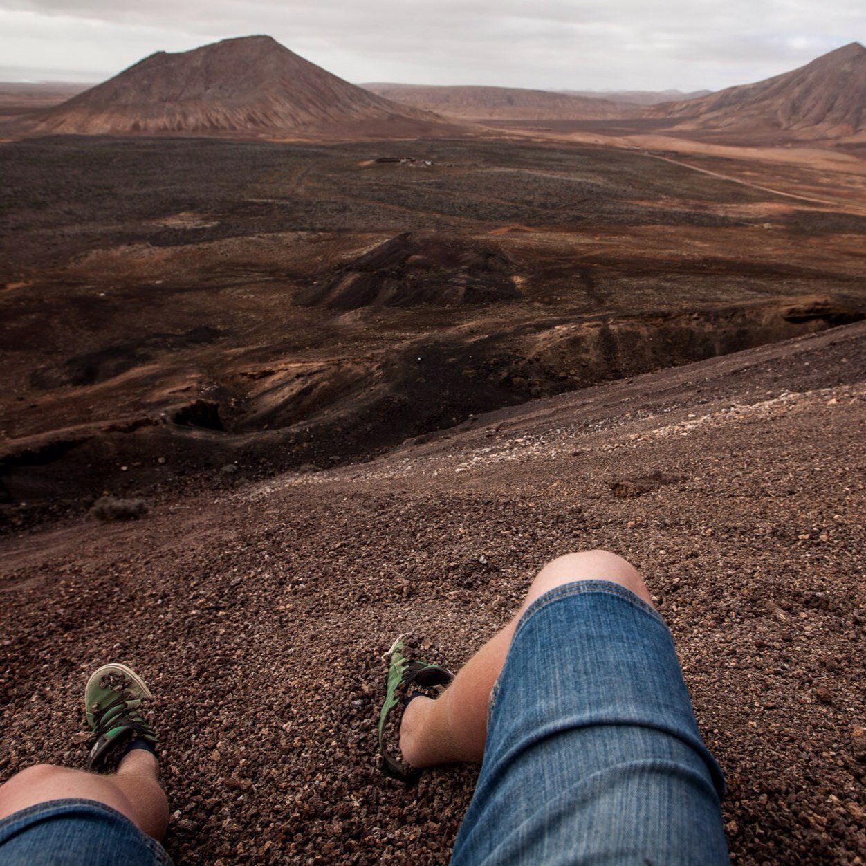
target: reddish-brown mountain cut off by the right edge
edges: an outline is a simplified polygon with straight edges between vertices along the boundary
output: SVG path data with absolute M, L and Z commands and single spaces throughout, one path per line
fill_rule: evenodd
M 657 110 L 682 119 L 676 127 L 682 130 L 785 131 L 802 139 L 855 136 L 866 132 L 866 48 L 851 42 L 792 72 Z

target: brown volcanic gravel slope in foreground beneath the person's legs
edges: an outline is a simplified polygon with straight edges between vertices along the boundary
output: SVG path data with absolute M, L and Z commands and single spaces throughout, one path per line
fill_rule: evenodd
M 375 766 L 379 656 L 459 666 L 533 573 L 643 570 L 727 774 L 734 863 L 863 863 L 866 324 L 482 416 L 377 462 L 3 541 L 0 778 L 158 695 L 178 863 L 446 863 L 475 772 Z

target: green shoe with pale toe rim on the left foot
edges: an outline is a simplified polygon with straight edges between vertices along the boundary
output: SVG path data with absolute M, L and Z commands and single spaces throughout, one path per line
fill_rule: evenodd
M 102 766 L 119 746 L 141 738 L 153 745 L 157 734 L 139 714 L 141 702 L 152 698 L 144 680 L 125 664 L 104 664 L 87 680 L 84 709 L 94 732 L 87 769 Z

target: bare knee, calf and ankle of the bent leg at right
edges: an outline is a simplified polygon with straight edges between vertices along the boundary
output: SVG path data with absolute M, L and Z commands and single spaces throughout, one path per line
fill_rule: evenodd
M 641 576 L 615 553 L 594 550 L 553 559 L 533 580 L 520 610 L 466 662 L 443 695 L 436 700 L 417 697 L 410 701 L 400 726 L 400 753 L 407 763 L 422 768 L 455 761 L 481 761 L 490 692 L 520 617 L 546 592 L 581 580 L 604 580 L 623 586 L 652 604 Z

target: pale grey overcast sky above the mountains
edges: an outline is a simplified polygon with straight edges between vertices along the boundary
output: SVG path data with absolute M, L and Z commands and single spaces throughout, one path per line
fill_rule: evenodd
M 864 0 L 0 0 L 0 80 L 268 34 L 349 81 L 718 89 L 866 41 Z

